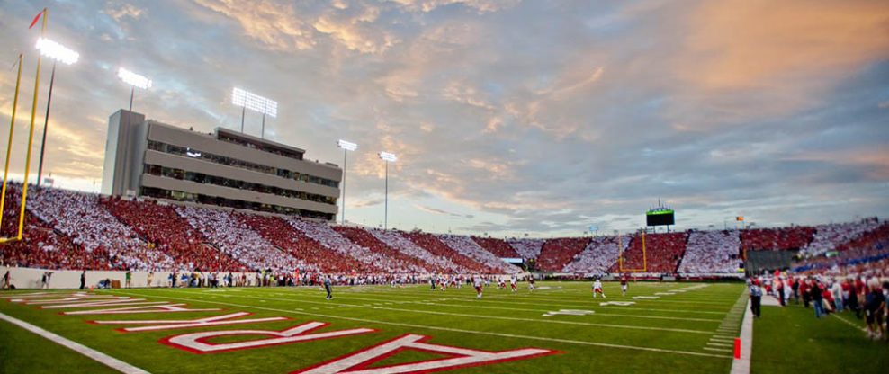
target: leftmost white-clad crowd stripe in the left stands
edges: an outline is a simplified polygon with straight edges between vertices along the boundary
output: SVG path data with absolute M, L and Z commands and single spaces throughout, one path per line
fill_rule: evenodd
M 86 252 L 107 254 L 115 269 L 173 269 L 170 256 L 156 251 L 131 227 L 114 218 L 99 203 L 99 195 L 53 188 L 32 189 L 31 213 L 71 238 Z

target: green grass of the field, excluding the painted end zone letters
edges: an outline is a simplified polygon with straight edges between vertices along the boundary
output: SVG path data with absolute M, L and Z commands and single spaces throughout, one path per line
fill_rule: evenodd
M 62 315 L 62 312 L 126 307 L 65 307 L 58 303 L 26 305 L 0 302 L 0 313 L 40 326 L 52 333 L 103 352 L 149 372 L 199 373 L 292 372 L 361 352 L 405 334 L 427 336 L 425 343 L 462 349 L 501 352 L 525 348 L 544 354 L 515 361 L 500 361 L 453 370 L 462 373 L 727 373 L 732 366 L 731 339 L 741 331 L 746 293 L 741 284 L 633 283 L 626 297 L 616 283 L 606 283 L 608 298 L 592 298 L 589 283 L 539 282 L 534 293 L 521 284 L 520 292 L 489 288 L 476 299 L 471 287 L 432 291 L 428 286 L 337 287 L 335 298 L 325 300 L 318 288 L 266 289 L 116 289 L 97 295 L 140 298 L 133 303 L 166 302 L 187 308 L 220 311 L 145 313 L 132 315 Z M 35 291 L 4 292 L 11 296 Z M 70 295 L 72 291 L 52 291 Z M 633 298 L 636 297 L 636 298 Z M 54 295 L 53 298 L 58 298 Z M 30 298 L 38 301 L 41 298 Z M 42 298 L 48 299 L 48 298 Z M 101 299 L 96 299 L 101 300 Z M 92 301 L 96 301 L 92 300 Z M 72 301 L 73 302 L 73 301 Z M 85 302 L 85 301 L 84 301 Z M 130 301 L 127 301 L 130 302 Z M 602 303 L 609 304 L 603 305 Z M 619 305 L 615 302 L 633 303 Z M 40 306 L 59 306 L 41 309 Z M 151 305 L 139 304 L 140 307 Z M 544 316 L 551 312 L 559 312 Z M 243 325 L 198 326 L 145 332 L 117 329 L 139 325 L 96 325 L 87 321 L 192 320 L 199 317 L 249 312 L 240 319 L 287 317 L 288 320 Z M 590 313 L 591 312 L 591 313 Z M 885 372 L 884 343 L 864 339 L 854 316 L 815 321 L 801 307 L 764 307 L 756 321 L 752 372 L 833 372 L 849 369 L 867 357 L 873 364 L 857 372 Z M 266 345 L 228 352 L 186 351 L 162 343 L 174 335 L 208 331 L 282 331 L 308 322 L 330 325 L 307 334 L 366 328 L 375 331 L 298 343 Z M 851 323 L 852 325 L 849 325 Z M 159 323 L 149 325 L 161 325 Z M 825 327 L 827 326 L 827 327 Z M 22 328 L 0 321 L 2 372 L 112 372 L 110 368 Z M 260 334 L 217 336 L 204 343 L 227 344 L 277 338 Z M 198 340 L 200 341 L 200 340 Z M 781 347 L 799 346 L 809 353 L 788 354 Z M 840 350 L 849 354 L 811 352 Z M 849 351 L 844 351 L 849 350 Z M 372 351 L 374 352 L 374 351 Z M 365 372 L 417 361 L 436 361 L 453 354 L 430 350 L 401 350 L 378 354 L 364 365 Z M 373 356 L 373 357 L 377 357 Z M 805 360 L 800 366 L 799 360 Z M 814 357 L 812 357 L 814 356 Z M 348 366 L 346 366 L 348 368 Z M 831 370 L 817 370 L 827 368 Z M 353 368 L 357 370 L 357 368 Z

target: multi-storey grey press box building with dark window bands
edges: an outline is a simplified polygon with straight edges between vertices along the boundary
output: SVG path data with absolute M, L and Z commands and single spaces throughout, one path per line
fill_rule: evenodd
M 238 131 L 207 134 L 120 110 L 108 121 L 102 192 L 336 220 L 343 170 L 304 155 Z

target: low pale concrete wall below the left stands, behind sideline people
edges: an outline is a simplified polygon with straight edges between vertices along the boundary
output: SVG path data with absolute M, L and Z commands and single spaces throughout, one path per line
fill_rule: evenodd
M 10 272 L 10 276 L 12 277 L 11 283 L 15 286 L 16 289 L 40 289 L 41 283 L 40 280 L 43 277 L 44 272 L 52 272 L 52 276 L 49 278 L 49 289 L 79 289 L 80 288 L 80 273 L 78 271 L 70 271 L 70 270 L 45 270 L 45 269 L 31 269 L 31 268 L 14 268 L 14 267 L 0 267 L 0 277 L 2 277 L 7 271 Z M 120 271 L 87 271 L 86 272 L 86 287 L 95 286 L 99 283 L 99 280 L 120 280 L 121 287 L 126 285 L 126 274 L 127 272 Z M 204 273 L 207 275 L 208 273 Z M 238 277 L 241 276 L 240 272 L 232 272 L 233 275 Z M 155 272 L 154 279 L 152 280 L 152 284 L 148 285 L 148 272 L 132 272 L 132 287 L 166 287 L 166 277 L 170 275 L 170 272 Z M 220 272 L 220 278 L 224 275 L 228 275 L 228 272 Z M 182 273 L 179 273 L 179 276 L 182 276 Z M 247 282 L 252 284 L 255 281 L 256 273 L 248 272 L 247 273 Z M 221 279 L 220 279 L 221 281 Z M 176 284 L 179 281 L 176 280 Z

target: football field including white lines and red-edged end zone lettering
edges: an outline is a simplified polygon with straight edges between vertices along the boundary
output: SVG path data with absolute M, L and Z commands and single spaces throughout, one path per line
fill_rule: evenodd
M 318 287 L 7 292 L 0 294 L 0 370 L 727 373 L 732 367 L 747 302 L 740 283 L 631 283 L 625 297 L 618 284 L 606 283 L 607 298 L 592 298 L 588 282 L 537 285 L 529 292 L 520 283 L 515 293 L 492 286 L 481 299 L 465 285 L 335 287 L 331 300 Z M 827 322 L 858 336 L 854 326 Z M 68 342 L 85 350 L 59 345 Z M 115 364 L 122 366 L 108 366 Z M 781 368 L 773 362 L 768 371 Z

